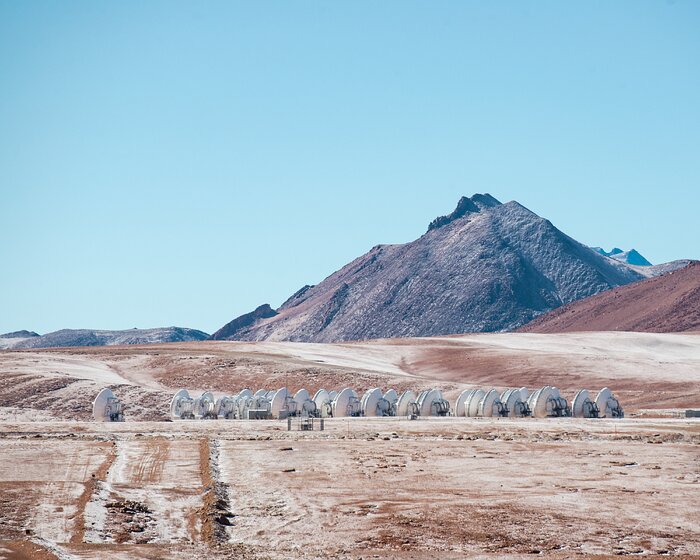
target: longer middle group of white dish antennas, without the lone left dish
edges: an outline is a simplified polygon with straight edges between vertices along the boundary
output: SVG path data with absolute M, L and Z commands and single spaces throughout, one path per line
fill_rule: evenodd
M 400 396 L 394 389 L 382 392 L 370 389 L 362 396 L 346 387 L 342 391 L 321 389 L 311 394 L 306 389 L 290 393 L 286 388 L 276 391 L 260 389 L 253 393 L 243 389 L 237 395 L 224 395 L 218 399 L 210 392 L 192 397 L 181 389 L 170 403 L 170 416 L 174 419 L 265 419 L 288 416 L 339 418 L 348 416 L 447 416 L 450 403 L 439 389 L 421 393 L 405 391 Z

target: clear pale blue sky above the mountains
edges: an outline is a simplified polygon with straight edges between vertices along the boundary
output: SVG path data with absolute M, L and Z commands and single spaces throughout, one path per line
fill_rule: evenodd
M 0 0 L 0 332 L 213 332 L 475 192 L 700 258 L 699 30 L 694 0 Z

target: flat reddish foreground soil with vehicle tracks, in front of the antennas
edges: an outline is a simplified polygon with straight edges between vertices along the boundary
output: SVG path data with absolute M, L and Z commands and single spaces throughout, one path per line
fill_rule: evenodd
M 0 550 L 24 543 L 59 558 L 700 555 L 700 421 L 335 419 L 316 428 L 0 424 Z M 17 464 L 27 467 L 7 466 Z

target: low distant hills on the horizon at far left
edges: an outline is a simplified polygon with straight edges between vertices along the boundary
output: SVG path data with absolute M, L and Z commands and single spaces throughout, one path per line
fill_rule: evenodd
M 27 332 L 27 331 L 20 331 Z M 8 333 L 18 334 L 18 333 Z M 6 337 L 0 348 L 61 348 L 66 346 L 115 346 L 118 344 L 157 344 L 162 342 L 189 342 L 206 340 L 209 335 L 195 329 L 164 327 L 156 329 L 130 329 L 125 331 L 98 331 L 89 329 L 63 329 L 42 336 Z

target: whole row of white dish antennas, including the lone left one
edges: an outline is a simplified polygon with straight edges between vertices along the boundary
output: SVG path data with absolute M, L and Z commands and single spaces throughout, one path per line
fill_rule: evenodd
M 122 405 L 110 389 L 102 389 L 92 405 L 98 422 L 123 422 Z M 342 391 L 321 389 L 312 397 L 306 389 L 290 393 L 260 389 L 253 393 L 243 389 L 237 395 L 215 398 L 206 391 L 193 397 L 181 389 L 170 402 L 173 419 L 266 419 L 304 416 L 341 418 L 348 416 L 461 416 L 461 417 L 526 417 L 546 418 L 622 418 L 624 411 L 612 391 L 605 387 L 595 398 L 586 389 L 578 391 L 571 404 L 556 387 L 545 386 L 530 393 L 527 388 L 467 389 L 452 407 L 440 389 L 399 395 L 394 389 L 382 392 L 375 388 L 358 395 L 350 387 Z

